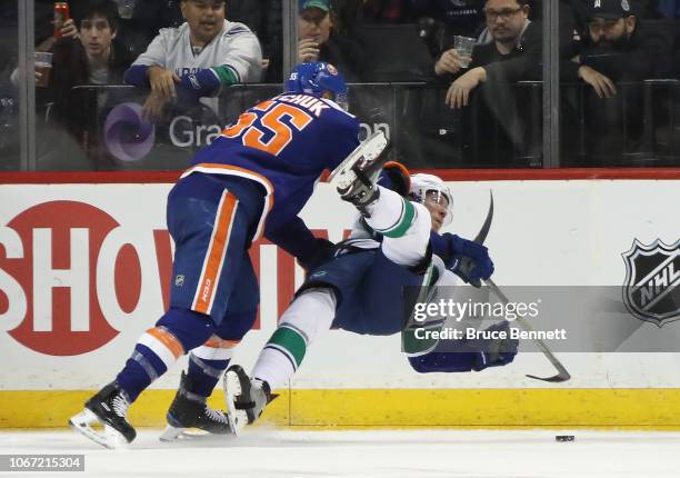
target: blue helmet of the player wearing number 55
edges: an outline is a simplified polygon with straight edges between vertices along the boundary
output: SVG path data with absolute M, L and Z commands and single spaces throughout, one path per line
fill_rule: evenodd
M 286 91 L 307 93 L 337 102 L 347 111 L 347 83 L 331 63 L 316 61 L 298 64 L 286 81 Z

